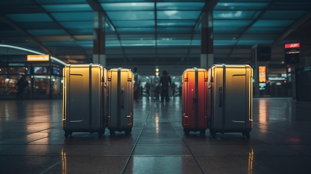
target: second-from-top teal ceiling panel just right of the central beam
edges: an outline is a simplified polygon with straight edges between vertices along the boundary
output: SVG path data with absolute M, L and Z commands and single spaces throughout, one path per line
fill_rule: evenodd
M 165 10 L 157 11 L 157 19 L 198 19 L 201 11 L 178 11 Z

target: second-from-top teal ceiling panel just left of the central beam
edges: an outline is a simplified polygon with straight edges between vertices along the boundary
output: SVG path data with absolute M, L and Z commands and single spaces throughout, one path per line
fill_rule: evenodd
M 107 15 L 112 21 L 155 19 L 154 11 L 107 11 Z

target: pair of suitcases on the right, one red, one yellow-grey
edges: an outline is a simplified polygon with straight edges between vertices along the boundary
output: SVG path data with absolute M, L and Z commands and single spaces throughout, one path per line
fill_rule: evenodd
M 253 69 L 247 64 L 214 64 L 208 71 L 189 68 L 182 74 L 182 126 L 186 135 L 207 128 L 216 133 L 252 129 Z

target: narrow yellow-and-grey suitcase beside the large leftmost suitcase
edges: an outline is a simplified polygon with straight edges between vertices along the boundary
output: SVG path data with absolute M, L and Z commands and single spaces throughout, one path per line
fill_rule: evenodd
M 127 68 L 112 68 L 108 71 L 108 117 L 110 135 L 125 131 L 128 135 L 133 127 L 134 74 Z

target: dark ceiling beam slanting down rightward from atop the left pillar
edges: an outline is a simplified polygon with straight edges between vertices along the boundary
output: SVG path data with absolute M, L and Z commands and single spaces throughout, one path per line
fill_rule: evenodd
M 109 16 L 107 15 L 106 11 L 102 8 L 101 4 L 99 3 L 98 0 L 86 0 L 86 2 L 89 4 L 89 6 L 93 9 L 93 11 L 99 11 L 99 12 L 102 12 L 104 13 L 105 15 L 105 22 L 110 26 L 110 28 L 115 32 L 117 38 L 118 38 L 118 41 L 120 43 L 120 46 L 121 46 L 121 50 L 122 50 L 122 53 L 123 53 L 123 59 L 125 61 L 125 63 L 127 63 L 127 58 L 126 58 L 126 55 L 125 55 L 125 51 L 124 51 L 124 47 L 122 46 L 122 43 L 121 43 L 121 38 L 120 38 L 120 35 L 116 29 L 116 27 L 113 25 L 113 23 L 111 22 L 111 19 L 109 18 Z

